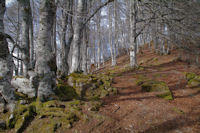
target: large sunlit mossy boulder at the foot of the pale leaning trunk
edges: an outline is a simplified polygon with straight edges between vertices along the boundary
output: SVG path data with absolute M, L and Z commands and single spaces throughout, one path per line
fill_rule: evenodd
M 112 77 L 109 75 L 72 73 L 67 79 L 68 85 L 73 87 L 76 93 L 83 99 L 103 98 L 117 92 L 116 89 L 110 89 L 112 88 Z

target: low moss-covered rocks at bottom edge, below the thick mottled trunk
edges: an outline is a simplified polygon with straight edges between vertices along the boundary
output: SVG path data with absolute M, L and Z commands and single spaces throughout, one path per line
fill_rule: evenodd
M 71 128 L 73 123 L 82 119 L 79 100 L 62 102 L 58 100 L 33 103 L 37 108 L 37 116 L 27 128 L 27 132 L 54 133 L 59 128 Z M 38 128 L 38 125 L 41 125 Z

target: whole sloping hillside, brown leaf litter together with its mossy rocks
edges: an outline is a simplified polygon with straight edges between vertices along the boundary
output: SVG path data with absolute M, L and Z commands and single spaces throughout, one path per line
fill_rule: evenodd
M 73 73 L 57 79 L 54 100 L 44 103 L 16 92 L 17 108 L 13 115 L 0 114 L 6 121 L 0 128 L 8 133 L 199 133 L 200 71 L 180 61 L 178 53 L 146 49 L 135 69 L 122 55 L 117 66 L 107 61 L 93 74 Z

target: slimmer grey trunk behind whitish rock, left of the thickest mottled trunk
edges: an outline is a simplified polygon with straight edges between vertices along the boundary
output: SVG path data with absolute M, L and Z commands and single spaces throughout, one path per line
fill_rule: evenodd
M 21 43 L 21 52 L 22 60 L 24 64 L 24 76 L 28 76 L 28 69 L 30 65 L 30 45 L 29 45 L 29 27 L 31 21 L 31 7 L 30 0 L 18 0 L 21 16 L 22 16 L 22 43 Z

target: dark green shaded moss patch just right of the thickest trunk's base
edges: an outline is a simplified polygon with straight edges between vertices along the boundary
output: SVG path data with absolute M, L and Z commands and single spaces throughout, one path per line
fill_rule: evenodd
M 78 98 L 76 90 L 68 85 L 58 84 L 55 94 L 61 101 L 67 101 Z

